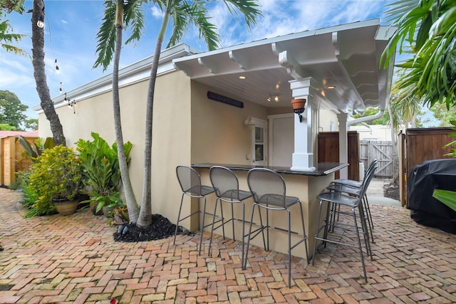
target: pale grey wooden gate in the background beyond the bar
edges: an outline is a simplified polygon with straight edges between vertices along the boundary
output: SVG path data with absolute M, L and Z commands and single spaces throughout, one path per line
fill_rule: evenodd
M 393 178 L 393 145 L 391 142 L 377 142 L 373 140 L 360 140 L 360 160 L 367 168 L 373 159 L 378 160 L 378 169 L 374 177 Z

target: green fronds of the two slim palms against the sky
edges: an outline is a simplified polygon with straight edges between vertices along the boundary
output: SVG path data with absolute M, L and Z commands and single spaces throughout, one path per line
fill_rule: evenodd
M 247 27 L 250 28 L 256 23 L 256 17 L 261 16 L 259 4 L 256 0 L 223 0 L 229 12 L 234 16 L 244 16 L 244 21 Z M 219 47 L 220 37 L 217 33 L 217 26 L 209 22 L 207 4 L 212 3 L 210 0 L 152 0 L 153 4 L 157 5 L 163 14 L 167 14 L 171 18 L 172 33 L 170 41 L 167 43 L 167 48 L 178 43 L 190 25 L 196 26 L 199 31 L 199 38 L 203 38 L 209 50 L 214 50 Z M 125 41 L 128 44 L 132 41 L 139 41 L 144 29 L 144 15 L 142 14 L 143 5 L 147 4 L 147 0 L 128 0 L 123 1 L 124 5 L 124 22 L 125 28 L 130 28 L 131 36 Z M 112 61 L 115 47 L 115 27 L 114 16 L 116 0 L 105 0 L 105 16 L 103 23 L 98 31 L 97 39 L 98 46 L 96 52 L 98 58 L 93 65 L 94 68 L 101 66 L 103 70 L 108 68 Z M 162 33 L 159 33 L 159 38 Z

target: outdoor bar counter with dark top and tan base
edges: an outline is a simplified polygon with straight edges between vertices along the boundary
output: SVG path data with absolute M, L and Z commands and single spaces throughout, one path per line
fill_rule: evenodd
M 275 172 L 281 174 L 281 177 L 284 178 L 286 184 L 286 195 L 288 196 L 297 196 L 302 202 L 303 211 L 304 211 L 304 225 L 306 227 L 306 234 L 309 236 L 307 243 L 309 246 L 309 258 L 310 255 L 314 252 L 315 239 L 314 234 L 318 227 L 317 217 L 318 217 L 318 204 L 319 201 L 316 199 L 316 196 L 323 192 L 326 189 L 326 186 L 333 181 L 334 172 L 347 167 L 348 164 L 338 163 L 338 162 L 323 162 L 316 165 L 314 171 L 297 171 L 292 170 L 289 167 L 267 167 L 267 166 L 254 166 L 247 164 L 192 164 L 192 167 L 195 168 L 202 180 L 202 184 L 211 185 L 209 179 L 209 168 L 212 166 L 223 166 L 229 169 L 232 169 L 233 172 L 237 175 L 239 179 L 239 189 L 249 191 L 247 185 L 247 172 L 253 168 L 268 168 L 272 169 Z M 214 211 L 214 201 L 216 199 L 215 194 L 210 194 L 207 196 L 207 211 L 213 213 Z M 244 201 L 245 203 L 245 220 L 249 221 L 250 216 L 252 215 L 252 205 L 254 203 L 252 198 Z M 229 219 L 231 216 L 231 208 L 227 203 L 224 203 L 224 216 L 225 219 Z M 262 210 L 264 211 L 264 210 Z M 299 206 L 295 205 L 291 207 L 291 230 L 301 231 L 299 229 L 301 226 L 301 216 L 299 216 Z M 217 214 L 219 214 L 219 208 L 217 208 Z M 255 212 L 256 218 L 254 218 L 254 223 L 259 223 L 259 218 L 257 217 L 258 212 Z M 242 219 L 242 208 L 240 204 L 234 204 L 234 217 L 237 219 Z M 264 217 L 265 219 L 265 217 Z M 212 221 L 211 216 L 206 216 L 206 222 L 204 224 L 209 224 Z M 269 224 L 271 226 L 278 226 L 281 228 L 286 228 L 286 211 L 274 211 L 269 213 Z M 252 227 L 252 230 L 255 227 Z M 225 236 L 230 239 L 237 239 L 241 241 L 242 235 L 242 224 L 239 221 L 236 221 L 235 226 L 235 238 L 232 236 L 231 224 L 225 225 Z M 246 224 L 246 234 L 248 233 L 249 226 Z M 210 226 L 206 228 L 210 231 Z M 214 233 L 222 235 L 222 229 L 219 228 Z M 294 237 L 294 236 L 292 236 Z M 247 239 L 246 239 L 247 241 Z M 292 239 L 292 243 L 296 240 Z M 261 236 L 257 236 L 251 243 L 255 246 L 263 248 L 263 241 Z M 287 253 L 287 238 L 286 233 L 283 231 L 276 231 L 274 229 L 269 230 L 269 249 L 272 251 L 277 251 L 281 253 Z M 293 256 L 299 256 L 301 258 L 306 257 L 306 251 L 304 248 L 304 243 L 301 243 L 299 246 L 294 248 L 292 251 Z

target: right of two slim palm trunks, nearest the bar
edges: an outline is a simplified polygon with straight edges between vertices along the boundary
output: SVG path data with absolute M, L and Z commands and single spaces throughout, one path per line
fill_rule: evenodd
M 157 36 L 154 57 L 152 58 L 152 68 L 150 69 L 149 88 L 147 90 L 147 105 L 145 116 L 145 148 L 144 148 L 144 176 L 142 184 L 142 201 L 140 216 L 137 226 L 146 227 L 152 224 L 152 118 L 154 107 L 155 80 L 157 79 L 158 61 L 162 49 L 163 39 L 167 22 L 170 18 L 168 11 L 163 16 L 162 26 Z

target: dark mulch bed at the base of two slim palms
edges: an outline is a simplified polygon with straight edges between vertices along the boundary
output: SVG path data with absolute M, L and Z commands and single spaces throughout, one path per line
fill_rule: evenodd
M 114 240 L 120 242 L 140 242 L 166 239 L 174 236 L 176 225 L 160 214 L 152 214 L 152 225 L 140 228 L 135 224 L 120 225 L 114 233 Z M 182 226 L 177 234 L 191 235 L 192 233 Z

